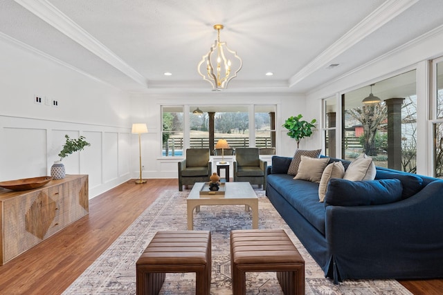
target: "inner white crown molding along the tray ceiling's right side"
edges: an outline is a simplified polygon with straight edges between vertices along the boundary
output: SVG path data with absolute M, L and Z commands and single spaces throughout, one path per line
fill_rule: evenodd
M 296 75 L 293 75 L 289 79 L 289 87 L 295 86 L 298 82 L 315 73 L 316 70 L 323 68 L 334 58 L 338 57 L 338 55 L 344 53 L 345 50 L 351 48 L 365 37 L 368 37 L 368 35 L 384 26 L 388 21 L 395 19 L 395 17 L 418 1 L 419 0 L 388 0 L 383 3 L 368 15 L 368 17 L 365 17 L 365 19 L 360 21 L 354 28 L 329 46 L 323 53 L 320 53 L 320 55 L 307 64 L 307 66 L 298 71 Z

